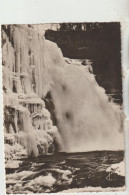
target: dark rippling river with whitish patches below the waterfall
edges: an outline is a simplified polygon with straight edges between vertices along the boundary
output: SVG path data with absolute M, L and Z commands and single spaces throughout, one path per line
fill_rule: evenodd
M 19 168 L 6 170 L 7 193 L 60 192 L 89 186 L 122 187 L 125 177 L 116 173 L 109 175 L 106 169 L 123 158 L 123 151 L 94 151 L 24 159 Z

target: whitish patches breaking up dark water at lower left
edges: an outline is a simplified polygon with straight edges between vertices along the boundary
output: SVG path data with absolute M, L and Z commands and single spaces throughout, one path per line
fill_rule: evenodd
M 32 164 L 33 166 L 33 164 Z M 53 174 L 57 173 L 57 174 Z M 46 173 L 39 175 L 33 171 L 22 171 L 7 175 L 8 192 L 26 191 L 43 193 L 50 192 L 52 188 L 60 185 L 69 185 L 72 182 L 71 171 L 61 169 L 46 169 Z M 37 177 L 36 177 L 37 176 Z M 13 184 L 13 185 L 12 185 Z M 24 184 L 24 185 L 23 185 Z

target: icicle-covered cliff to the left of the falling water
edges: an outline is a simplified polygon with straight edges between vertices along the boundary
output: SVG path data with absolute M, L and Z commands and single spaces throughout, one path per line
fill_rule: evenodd
M 51 44 L 53 55 L 48 47 Z M 60 135 L 45 108 L 58 51 L 26 25 L 2 26 L 5 158 L 38 156 L 60 148 Z

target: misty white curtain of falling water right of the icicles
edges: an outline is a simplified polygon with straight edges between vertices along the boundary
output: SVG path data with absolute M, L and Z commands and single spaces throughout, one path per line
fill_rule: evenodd
M 53 56 L 56 47 L 49 47 Z M 60 51 L 58 52 L 60 54 Z M 67 152 L 123 149 L 123 114 L 118 105 L 108 100 L 87 67 L 79 63 L 59 61 L 52 67 L 51 93 L 55 104 L 58 128 Z M 60 57 L 59 57 L 60 56 Z

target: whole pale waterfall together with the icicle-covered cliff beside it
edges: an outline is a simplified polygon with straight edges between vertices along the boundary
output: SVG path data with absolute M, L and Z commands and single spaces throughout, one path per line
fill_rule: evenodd
M 123 149 L 121 110 L 108 102 L 87 67 L 67 63 L 55 43 L 26 25 L 3 26 L 2 40 L 8 158 L 18 148 L 23 155 L 47 154 L 54 144 L 67 152 Z M 45 108 L 48 92 L 58 128 Z

